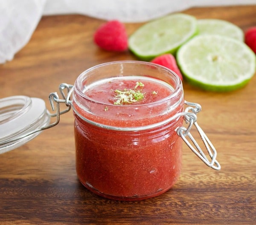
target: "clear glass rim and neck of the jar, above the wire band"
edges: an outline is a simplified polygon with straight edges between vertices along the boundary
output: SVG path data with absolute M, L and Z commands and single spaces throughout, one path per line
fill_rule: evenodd
M 170 89 L 169 94 L 146 104 L 124 105 L 97 101 L 84 94 L 87 88 L 93 88 L 106 79 L 132 79 L 132 76 L 135 80 L 142 77 L 142 82 L 143 79 L 158 80 L 160 85 Z M 183 86 L 177 74 L 164 66 L 136 60 L 103 63 L 87 69 L 76 79 L 72 100 L 74 114 L 85 122 L 122 131 L 145 130 L 165 124 L 183 111 L 183 101 Z

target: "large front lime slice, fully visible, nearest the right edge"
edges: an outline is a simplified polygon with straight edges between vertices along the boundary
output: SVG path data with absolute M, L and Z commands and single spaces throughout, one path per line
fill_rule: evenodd
M 249 82 L 256 56 L 243 42 L 221 35 L 198 35 L 177 51 L 185 79 L 209 91 L 232 91 Z

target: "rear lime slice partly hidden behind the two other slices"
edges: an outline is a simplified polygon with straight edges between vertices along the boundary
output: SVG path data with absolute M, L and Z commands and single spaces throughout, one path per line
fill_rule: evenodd
M 238 26 L 226 20 L 198 20 L 199 34 L 218 34 L 244 41 L 244 32 Z

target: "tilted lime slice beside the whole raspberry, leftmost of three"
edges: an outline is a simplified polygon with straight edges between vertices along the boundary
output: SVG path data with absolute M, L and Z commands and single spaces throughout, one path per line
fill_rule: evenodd
M 130 50 L 143 60 L 175 54 L 177 48 L 197 33 L 195 17 L 177 13 L 141 26 L 128 40 Z

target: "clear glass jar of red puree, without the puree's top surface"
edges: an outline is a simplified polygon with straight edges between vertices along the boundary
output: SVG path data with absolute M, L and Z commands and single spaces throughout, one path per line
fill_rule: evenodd
M 170 94 L 137 105 L 102 103 L 85 94 L 98 81 L 127 76 L 135 81 L 137 76 L 150 77 L 151 85 L 164 81 Z M 180 175 L 182 139 L 176 128 L 183 123 L 182 117 L 172 117 L 183 112 L 183 106 L 180 79 L 162 66 L 120 61 L 84 71 L 73 90 L 76 171 L 81 183 L 118 200 L 146 199 L 169 190 Z

